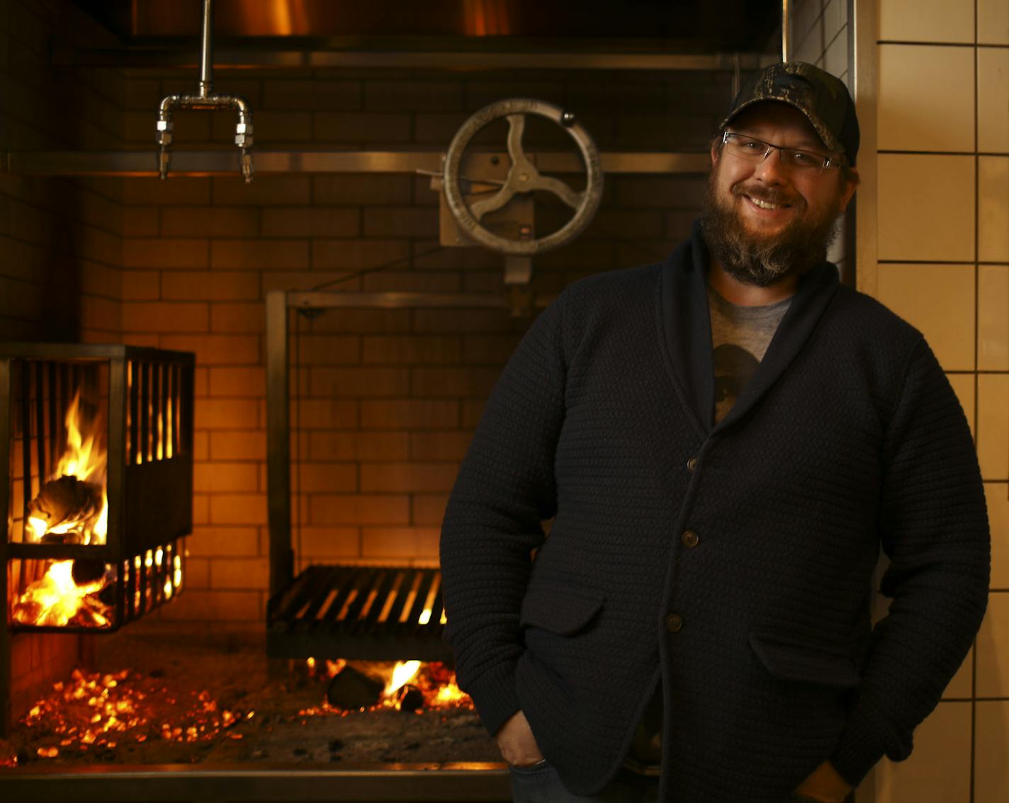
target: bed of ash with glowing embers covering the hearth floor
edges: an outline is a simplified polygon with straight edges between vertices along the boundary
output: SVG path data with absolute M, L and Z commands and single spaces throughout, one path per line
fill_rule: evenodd
M 328 678 L 270 666 L 259 633 L 137 622 L 95 652 L 0 740 L 0 766 L 501 761 L 469 707 L 330 707 Z

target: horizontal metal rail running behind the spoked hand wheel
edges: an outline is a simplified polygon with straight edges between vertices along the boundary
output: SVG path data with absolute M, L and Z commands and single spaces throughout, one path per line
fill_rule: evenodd
M 503 151 L 498 154 L 507 158 Z M 263 150 L 256 152 L 256 173 L 418 173 L 441 174 L 437 150 Z M 582 173 L 578 155 L 543 151 L 529 154 L 544 173 Z M 612 151 L 599 154 L 608 174 L 702 174 L 706 153 Z M 150 150 L 21 150 L 0 159 L 5 173 L 20 176 L 155 177 L 157 156 Z M 232 150 L 179 150 L 172 154 L 174 176 L 226 176 L 239 170 Z

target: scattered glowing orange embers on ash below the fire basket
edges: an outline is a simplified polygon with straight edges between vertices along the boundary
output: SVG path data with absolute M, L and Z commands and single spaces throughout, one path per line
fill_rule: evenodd
M 172 712 L 170 719 L 163 718 L 166 710 Z M 51 740 L 38 748 L 37 755 L 54 759 L 61 751 L 111 750 L 117 743 L 150 738 L 210 741 L 252 716 L 252 711 L 219 710 L 207 691 L 193 691 L 190 699 L 176 699 L 166 688 L 129 670 L 103 675 L 76 669 L 71 681 L 54 684 L 52 692 L 32 706 L 20 724 L 37 731 L 43 741 Z M 229 735 L 241 738 L 238 733 Z M 12 760 L 6 763 L 16 764 Z

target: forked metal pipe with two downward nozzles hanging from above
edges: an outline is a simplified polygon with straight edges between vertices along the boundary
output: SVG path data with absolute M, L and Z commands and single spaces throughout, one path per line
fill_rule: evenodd
M 252 181 L 252 110 L 248 103 L 237 95 L 215 95 L 211 74 L 213 62 L 213 0 L 203 0 L 203 38 L 200 50 L 200 90 L 197 95 L 167 95 L 161 98 L 157 110 L 157 171 L 163 181 L 169 177 L 172 154 L 172 114 L 176 109 L 219 110 L 231 109 L 238 112 L 235 125 L 235 144 L 241 149 L 242 177 L 245 184 Z

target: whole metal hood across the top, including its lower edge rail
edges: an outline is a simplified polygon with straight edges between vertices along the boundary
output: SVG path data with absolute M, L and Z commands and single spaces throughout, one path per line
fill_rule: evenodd
M 120 43 L 77 66 L 192 67 L 201 0 L 72 0 Z M 779 0 L 217 0 L 215 67 L 732 70 L 774 52 Z M 740 55 L 742 54 L 742 55 Z

